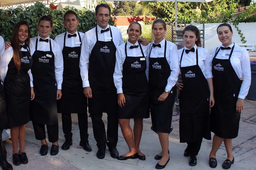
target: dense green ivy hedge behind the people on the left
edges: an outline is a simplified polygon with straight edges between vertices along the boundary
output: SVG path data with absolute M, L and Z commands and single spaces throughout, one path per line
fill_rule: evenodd
M 35 5 L 26 7 L 24 9 L 0 9 L 0 28 L 2 28 L 0 29 L 0 35 L 5 39 L 5 41 L 10 41 L 13 25 L 21 20 L 26 20 L 31 29 L 31 37 L 35 37 L 38 34 L 37 24 L 39 18 L 43 15 L 52 15 L 53 30 L 50 36 L 52 39 L 54 39 L 55 36 L 66 31 L 65 26 L 63 25 L 63 15 L 70 9 L 76 11 L 78 14 L 78 31 L 86 32 L 96 26 L 97 21 L 94 17 L 95 13 L 93 11 L 89 11 L 85 8 L 78 10 L 70 7 L 66 7 L 61 10 L 52 10 L 45 7 L 45 5 L 43 5 L 41 2 L 36 2 Z M 114 21 L 110 19 L 109 25 L 114 25 Z

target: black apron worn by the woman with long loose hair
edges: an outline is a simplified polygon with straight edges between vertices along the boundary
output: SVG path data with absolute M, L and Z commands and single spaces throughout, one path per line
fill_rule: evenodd
M 29 69 L 33 65 L 30 51 L 21 51 L 21 68 L 17 73 L 14 59 L 11 58 L 4 81 L 8 124 L 10 127 L 25 125 L 30 113 L 30 77 Z

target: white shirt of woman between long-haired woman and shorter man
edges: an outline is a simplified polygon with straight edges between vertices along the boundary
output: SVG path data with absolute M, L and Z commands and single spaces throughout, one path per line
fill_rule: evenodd
M 37 42 L 37 50 L 40 51 L 50 51 L 50 43 L 39 41 L 41 37 L 38 35 L 37 37 L 30 39 L 30 49 L 31 49 L 31 56 L 34 54 L 36 50 L 36 40 Z M 46 39 L 50 39 L 48 36 Z M 54 71 L 55 71 L 55 79 L 57 83 L 57 89 L 61 89 L 61 84 L 63 80 L 63 57 L 62 57 L 62 50 L 58 43 L 56 43 L 53 39 L 51 39 L 52 43 L 52 51 L 54 53 Z

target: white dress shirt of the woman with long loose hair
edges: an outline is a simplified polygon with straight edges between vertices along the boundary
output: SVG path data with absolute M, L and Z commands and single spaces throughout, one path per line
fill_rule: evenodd
M 22 44 L 24 45 L 24 43 Z M 21 51 L 27 51 L 27 49 L 21 48 Z M 0 79 L 2 83 L 5 81 L 5 77 L 8 71 L 8 64 L 11 61 L 11 58 L 13 58 L 13 48 L 10 47 L 7 50 L 5 50 L 1 56 L 0 60 Z M 30 77 L 30 87 L 33 87 L 33 77 L 31 74 L 31 70 L 28 71 L 29 77 Z

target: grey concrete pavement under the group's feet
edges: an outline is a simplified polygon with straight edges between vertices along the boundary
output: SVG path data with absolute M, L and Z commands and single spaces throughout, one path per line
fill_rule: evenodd
M 173 108 L 173 115 L 176 115 L 176 107 Z M 201 150 L 197 156 L 197 165 L 190 167 L 188 165 L 189 157 L 184 157 L 183 152 L 186 148 L 185 143 L 179 143 L 179 116 L 172 117 L 173 131 L 169 135 L 169 150 L 170 161 L 166 165 L 165 169 L 168 170 L 210 170 L 208 165 L 209 152 L 211 150 L 211 141 L 203 140 Z M 106 122 L 107 116 L 103 116 L 104 122 Z M 99 160 L 96 157 L 98 148 L 93 137 L 92 121 L 88 118 L 88 133 L 89 143 L 92 146 L 92 152 L 86 152 L 81 146 L 79 146 L 79 128 L 77 122 L 77 115 L 72 114 L 72 133 L 73 133 L 73 145 L 67 151 L 61 150 L 61 145 L 64 143 L 64 135 L 62 132 L 61 115 L 59 114 L 59 145 L 60 152 L 56 156 L 48 155 L 41 156 L 39 153 L 40 141 L 34 138 L 34 132 L 32 123 L 29 122 L 26 125 L 26 142 L 25 151 L 27 153 L 29 163 L 26 165 L 13 165 L 17 170 L 99 170 L 99 169 L 155 169 L 155 164 L 158 162 L 154 159 L 154 156 L 161 152 L 160 143 L 157 134 L 150 130 L 151 120 L 144 120 L 143 134 L 140 144 L 141 151 L 146 155 L 146 160 L 141 161 L 139 159 L 119 161 L 113 159 L 110 156 L 108 150 L 106 150 L 106 156 L 103 160 Z M 131 123 L 132 124 L 132 123 Z M 105 125 L 107 125 L 105 123 Z M 128 151 L 126 142 L 124 141 L 121 129 L 119 128 L 119 139 L 117 149 L 119 154 L 122 155 Z M 48 143 L 49 150 L 51 143 Z M 5 146 L 7 149 L 7 160 L 12 163 L 11 157 L 11 141 L 6 140 Z M 49 151 L 48 150 L 48 151 Z M 233 154 L 235 162 L 232 164 L 233 170 L 255 170 L 256 169 L 256 101 L 245 100 L 245 109 L 241 113 L 240 129 L 237 138 L 233 139 Z M 216 170 L 222 170 L 222 163 L 226 159 L 225 147 L 222 145 L 217 152 L 218 166 Z

